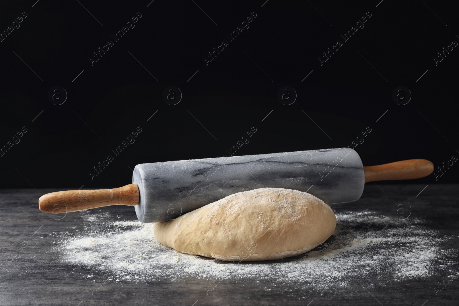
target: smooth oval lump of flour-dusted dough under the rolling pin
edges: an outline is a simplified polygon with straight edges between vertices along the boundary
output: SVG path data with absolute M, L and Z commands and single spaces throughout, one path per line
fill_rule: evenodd
M 229 195 L 155 224 L 155 237 L 182 253 L 223 261 L 296 256 L 333 234 L 330 206 L 306 192 L 260 188 Z

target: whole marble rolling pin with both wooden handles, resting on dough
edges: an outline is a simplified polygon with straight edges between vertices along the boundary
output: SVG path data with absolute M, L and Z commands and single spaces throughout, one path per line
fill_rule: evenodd
M 335 204 L 358 200 L 367 182 L 422 178 L 432 172 L 433 164 L 424 159 L 364 167 L 350 148 L 153 162 L 135 166 L 132 184 L 49 193 L 40 197 L 39 208 L 66 213 L 128 205 L 140 222 L 163 222 L 241 191 L 296 189 Z

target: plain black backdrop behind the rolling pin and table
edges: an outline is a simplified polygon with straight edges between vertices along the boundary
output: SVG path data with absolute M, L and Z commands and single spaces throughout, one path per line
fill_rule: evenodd
M 425 158 L 437 167 L 459 156 L 459 51 L 433 60 L 459 41 L 452 2 L 79 2 L 0 5 L 1 32 L 27 14 L 0 42 L 0 146 L 27 128 L 0 157 L 2 188 L 119 187 L 139 163 L 228 156 L 252 127 L 235 155 L 347 147 L 370 127 L 355 148 L 366 166 Z M 91 66 L 137 12 L 135 27 Z M 207 52 L 252 12 L 250 27 L 206 66 Z M 341 34 L 367 12 L 345 42 Z M 337 40 L 344 45 L 321 66 Z M 174 106 L 162 99 L 171 85 L 183 94 Z M 67 91 L 62 105 L 48 100 L 53 86 Z M 277 99 L 283 86 L 297 92 L 291 105 Z M 392 100 L 398 86 L 412 93 L 406 105 Z M 456 183 L 458 167 L 437 181 L 398 183 Z

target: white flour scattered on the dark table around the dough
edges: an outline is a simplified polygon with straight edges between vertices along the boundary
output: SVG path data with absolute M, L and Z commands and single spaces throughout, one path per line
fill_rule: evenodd
M 442 259 L 441 239 L 420 219 L 387 217 L 372 211 L 336 214 L 336 230 L 323 245 L 279 261 L 225 262 L 179 253 L 159 244 L 152 223 L 113 222 L 91 215 L 89 233 L 69 238 L 55 251 L 66 263 L 99 270 L 109 281 L 161 281 L 185 278 L 276 279 L 319 288 L 345 287 L 366 274 L 381 280 L 432 275 L 452 265 Z M 104 234 L 100 234 L 100 233 Z

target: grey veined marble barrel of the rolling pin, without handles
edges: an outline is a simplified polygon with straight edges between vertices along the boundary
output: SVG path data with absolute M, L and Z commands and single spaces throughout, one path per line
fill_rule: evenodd
M 349 148 L 164 161 L 135 166 L 132 184 L 142 222 L 163 222 L 263 187 L 308 191 L 327 204 L 358 200 L 364 188 L 358 153 Z

